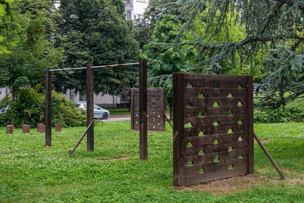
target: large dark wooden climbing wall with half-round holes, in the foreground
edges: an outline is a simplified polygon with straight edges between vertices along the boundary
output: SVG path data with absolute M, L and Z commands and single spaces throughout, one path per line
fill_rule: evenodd
M 254 173 L 253 77 L 173 74 L 173 184 Z

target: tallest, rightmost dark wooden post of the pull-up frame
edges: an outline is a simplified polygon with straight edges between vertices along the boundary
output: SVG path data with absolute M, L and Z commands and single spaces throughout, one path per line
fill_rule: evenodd
M 139 59 L 139 159 L 148 158 L 147 60 Z

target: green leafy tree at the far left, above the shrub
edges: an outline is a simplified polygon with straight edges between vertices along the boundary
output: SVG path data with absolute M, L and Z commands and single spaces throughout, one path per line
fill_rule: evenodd
M 33 13 L 33 9 L 29 9 L 30 12 L 23 12 L 19 7 L 22 3 L 20 1 L 12 5 L 15 18 L 11 18 L 9 23 L 15 25 L 16 29 L 7 33 L 6 38 L 13 43 L 8 46 L 7 52 L 0 54 L 0 87 L 10 88 L 12 110 L 16 90 L 43 84 L 45 67 L 56 67 L 62 58 L 62 51 L 53 47 L 46 33 L 48 11 L 43 9 Z

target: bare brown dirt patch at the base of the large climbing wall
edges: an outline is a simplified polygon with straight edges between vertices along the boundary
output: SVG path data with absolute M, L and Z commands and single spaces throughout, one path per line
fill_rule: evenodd
M 251 190 L 252 187 L 254 186 L 259 187 L 259 186 L 265 186 L 267 184 L 279 185 L 282 183 L 292 186 L 298 183 L 304 183 L 304 180 L 287 179 L 286 181 L 282 181 L 280 179 L 269 178 L 267 176 L 249 174 L 246 176 L 238 176 L 233 178 L 210 181 L 207 183 L 185 186 L 181 190 L 205 191 L 205 192 L 210 192 L 214 195 L 224 195 L 224 194 L 231 194 L 244 190 Z

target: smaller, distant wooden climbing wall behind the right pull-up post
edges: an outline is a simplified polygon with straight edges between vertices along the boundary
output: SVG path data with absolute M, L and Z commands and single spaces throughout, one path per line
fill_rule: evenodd
M 165 88 L 147 88 L 147 129 L 166 131 Z M 131 89 L 131 129 L 139 130 L 139 88 Z

